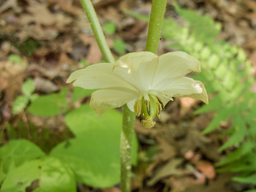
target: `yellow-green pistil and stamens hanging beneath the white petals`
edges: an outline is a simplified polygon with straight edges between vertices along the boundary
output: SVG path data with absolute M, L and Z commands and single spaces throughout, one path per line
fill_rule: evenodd
M 156 122 L 154 122 L 153 119 L 154 117 L 159 119 L 162 109 L 164 109 L 162 100 L 152 91 L 140 94 L 134 103 L 134 112 L 146 128 L 155 126 Z M 143 114 L 145 119 L 142 119 Z

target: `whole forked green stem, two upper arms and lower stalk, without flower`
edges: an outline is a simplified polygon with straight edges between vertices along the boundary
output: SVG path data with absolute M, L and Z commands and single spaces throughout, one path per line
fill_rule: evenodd
M 148 39 L 146 51 L 156 53 L 160 39 L 160 33 L 164 18 L 167 0 L 153 0 L 150 15 Z M 80 0 L 86 16 L 92 27 L 92 31 L 106 62 L 113 63 L 114 58 L 108 48 L 105 36 L 100 27 L 100 22 L 90 0 Z M 130 174 L 132 167 L 132 144 L 134 133 L 134 112 L 130 111 L 127 105 L 123 106 L 123 126 L 121 132 L 121 188 L 122 192 L 130 192 Z

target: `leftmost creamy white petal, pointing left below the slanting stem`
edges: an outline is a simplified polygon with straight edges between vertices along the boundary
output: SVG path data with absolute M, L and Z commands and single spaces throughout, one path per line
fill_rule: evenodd
M 77 70 L 69 76 L 67 83 L 74 81 L 73 86 L 84 89 L 102 89 L 120 86 L 136 91 L 136 88 L 113 73 L 113 66 L 114 64 L 112 63 L 99 63 Z

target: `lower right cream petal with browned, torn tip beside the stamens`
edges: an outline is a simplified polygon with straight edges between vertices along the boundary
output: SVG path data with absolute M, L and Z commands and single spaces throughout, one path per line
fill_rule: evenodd
M 190 97 L 208 104 L 208 95 L 204 84 L 192 78 L 180 77 L 165 80 L 158 85 L 158 90 L 165 92 L 170 97 Z

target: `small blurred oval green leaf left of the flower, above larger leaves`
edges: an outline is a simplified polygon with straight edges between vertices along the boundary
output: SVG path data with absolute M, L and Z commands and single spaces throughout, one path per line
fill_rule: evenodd
M 68 110 L 65 94 L 39 96 L 29 106 L 28 111 L 39 116 L 53 116 Z

